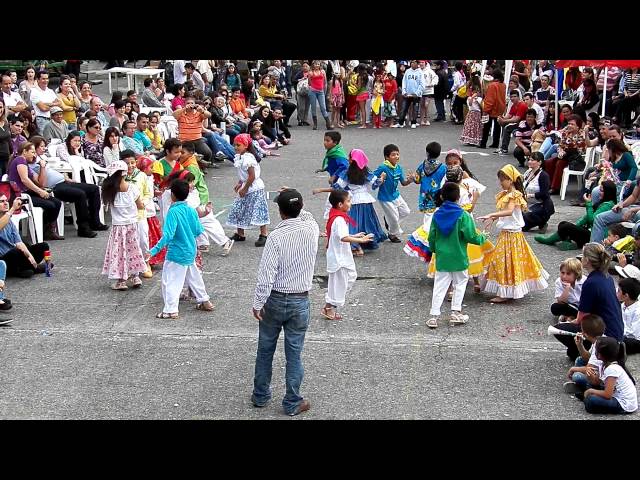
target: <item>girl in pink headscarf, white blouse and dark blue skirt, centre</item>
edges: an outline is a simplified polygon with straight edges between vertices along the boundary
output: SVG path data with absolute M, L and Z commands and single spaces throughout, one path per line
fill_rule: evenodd
M 371 190 L 378 188 L 385 180 L 387 174 L 382 173 L 380 178 L 376 177 L 369 171 L 367 165 L 369 159 L 365 153 L 354 148 L 349 153 L 349 168 L 336 181 L 334 188 L 348 190 L 351 193 L 351 210 L 349 213 L 355 221 L 355 225 L 349 225 L 349 233 L 355 235 L 358 232 L 372 233 L 373 239 L 364 244 L 353 246 L 356 257 L 364 255 L 363 248 L 367 250 L 375 250 L 379 247 L 378 243 L 387 239 L 387 235 L 382 230 L 378 215 L 373 208 L 376 199 L 371 195 Z M 313 190 L 314 195 L 320 192 L 331 192 L 331 188 L 317 188 Z M 329 232 L 327 232 L 327 235 Z

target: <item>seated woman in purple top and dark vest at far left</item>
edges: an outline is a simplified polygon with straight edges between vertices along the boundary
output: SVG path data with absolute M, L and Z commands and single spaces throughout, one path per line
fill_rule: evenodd
M 41 137 L 33 137 L 35 141 L 40 141 L 40 139 Z M 31 142 L 23 143 L 18 150 L 18 156 L 9 164 L 9 181 L 12 182 L 12 188 L 17 192 L 29 194 L 34 207 L 42 208 L 45 240 L 64 240 L 64 237 L 57 234 L 58 213 L 62 202 L 40 186 L 46 183 L 46 162 L 40 161 L 40 172 L 36 175 L 29 168 L 35 159 L 36 148 L 34 144 Z

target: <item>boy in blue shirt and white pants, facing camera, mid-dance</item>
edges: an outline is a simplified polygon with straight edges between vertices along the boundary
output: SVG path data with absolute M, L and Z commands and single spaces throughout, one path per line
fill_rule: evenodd
M 392 143 L 385 145 L 383 154 L 384 162 L 373 172 L 378 178 L 382 172 L 387 174 L 387 178 L 378 190 L 378 201 L 384 210 L 384 224 L 389 231 L 389 240 L 393 243 L 400 243 L 402 241 L 398 238 L 398 235 L 402 234 L 400 222 L 411 213 L 411 210 L 400 195 L 398 183 L 406 187 L 414 181 L 414 175 L 413 172 L 408 172 L 405 178 L 404 171 L 399 164 L 400 149 L 397 145 Z

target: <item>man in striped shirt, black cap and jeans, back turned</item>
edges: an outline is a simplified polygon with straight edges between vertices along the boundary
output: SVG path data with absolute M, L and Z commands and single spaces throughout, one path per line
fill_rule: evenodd
M 309 326 L 309 290 L 313 280 L 320 229 L 311 213 L 302 210 L 302 195 L 284 188 L 276 197 L 282 222 L 269 234 L 258 270 L 253 316 L 259 321 L 258 353 L 251 401 L 264 407 L 271 399 L 273 354 L 284 329 L 287 415 L 311 408 L 300 396 L 304 376 L 302 349 Z

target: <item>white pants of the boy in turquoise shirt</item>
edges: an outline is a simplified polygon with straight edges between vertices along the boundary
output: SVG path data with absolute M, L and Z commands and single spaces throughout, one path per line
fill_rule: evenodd
M 209 300 L 204 287 L 204 280 L 195 263 L 188 267 L 170 260 L 164 261 L 162 267 L 162 298 L 164 299 L 164 313 L 177 313 L 180 292 L 183 286 L 188 286 L 196 296 L 198 303 Z

